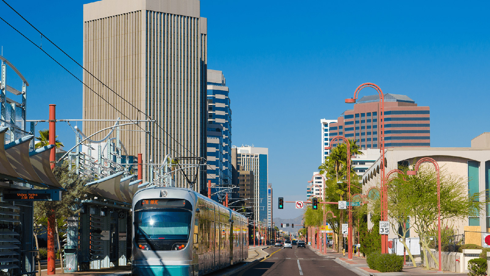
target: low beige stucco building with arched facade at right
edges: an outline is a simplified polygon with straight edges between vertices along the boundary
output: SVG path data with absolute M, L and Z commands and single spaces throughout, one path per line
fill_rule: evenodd
M 397 169 L 398 165 L 414 165 L 422 157 L 435 159 L 441 171 L 450 172 L 453 175 L 461 176 L 467 181 L 465 192 L 475 193 L 489 189 L 490 175 L 490 132 L 485 132 L 471 140 L 470 148 L 392 148 L 386 150 L 386 169 L 388 173 Z M 425 163 L 424 163 L 425 165 Z M 433 166 L 426 163 L 427 166 Z M 380 159 L 372 164 L 363 175 L 362 187 L 363 194 L 366 194 L 371 187 L 380 187 Z M 482 195 L 480 201 L 485 201 Z M 488 208 L 487 208 L 488 209 Z M 490 214 L 483 211 L 480 217 L 468 217 L 465 220 L 452 222 L 459 234 L 465 231 L 465 242 L 481 242 L 481 234 L 477 232 L 490 232 Z M 369 227 L 371 227 L 370 225 Z M 471 231 L 471 232 L 470 232 Z M 410 236 L 417 236 L 414 231 Z M 474 236 L 474 237 L 473 237 Z M 389 239 L 397 237 L 395 233 L 389 235 Z M 474 241 L 470 241 L 473 240 Z

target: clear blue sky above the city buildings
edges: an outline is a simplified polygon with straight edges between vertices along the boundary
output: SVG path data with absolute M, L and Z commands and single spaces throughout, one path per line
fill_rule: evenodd
M 8 2 L 82 61 L 82 4 L 90 1 Z M 230 87 L 233 145 L 269 148 L 274 217 L 299 215 L 293 205 L 277 210 L 276 199 L 305 198 L 320 162 L 319 120 L 349 108 L 343 99 L 363 82 L 429 105 L 433 147 L 467 147 L 490 131 L 488 10 L 484 1 L 202 0 L 208 68 L 222 70 Z M 41 42 L 2 2 L 0 16 Z M 0 29 L 3 55 L 30 83 L 28 119 L 48 119 L 49 103 L 57 104 L 60 119 L 81 118 L 81 84 L 3 22 Z M 80 69 L 42 42 L 81 77 Z M 10 84 L 20 85 L 12 74 Z M 369 94 L 374 90 L 362 92 Z M 58 124 L 57 134 L 73 146 L 67 125 Z

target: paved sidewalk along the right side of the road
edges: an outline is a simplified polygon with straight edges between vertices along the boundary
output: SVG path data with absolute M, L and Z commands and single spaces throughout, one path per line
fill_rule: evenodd
M 362 276 L 415 276 L 415 275 L 432 275 L 438 274 L 436 269 L 427 270 L 423 267 L 413 267 L 413 266 L 404 266 L 402 272 L 387 272 L 381 273 L 377 270 L 372 270 L 368 267 L 368 263 L 366 262 L 366 258 L 358 257 L 357 254 L 352 257 L 352 260 L 347 259 L 347 252 L 345 256 L 342 253 L 337 253 L 337 251 L 333 251 L 332 249 L 327 249 L 327 253 L 323 254 L 313 246 L 309 246 L 309 248 L 316 252 L 320 256 L 324 256 L 327 258 L 335 258 L 335 261 L 342 265 L 343 267 L 355 272 L 358 275 Z M 444 271 L 444 276 L 463 276 L 466 273 L 455 273 L 450 271 Z

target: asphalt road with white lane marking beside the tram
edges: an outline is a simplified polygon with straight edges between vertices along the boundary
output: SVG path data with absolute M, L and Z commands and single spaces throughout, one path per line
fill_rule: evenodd
M 271 247 L 264 251 L 270 253 L 268 258 L 248 269 L 233 274 L 233 276 L 357 276 L 354 272 L 336 263 L 332 258 L 319 256 L 308 248 L 297 248 L 294 245 L 293 249 Z

